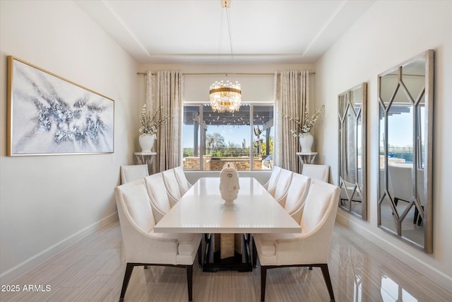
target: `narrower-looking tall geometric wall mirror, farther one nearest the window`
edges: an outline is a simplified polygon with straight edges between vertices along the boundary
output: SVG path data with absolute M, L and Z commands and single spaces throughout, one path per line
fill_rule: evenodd
M 339 207 L 367 220 L 367 83 L 338 95 Z

